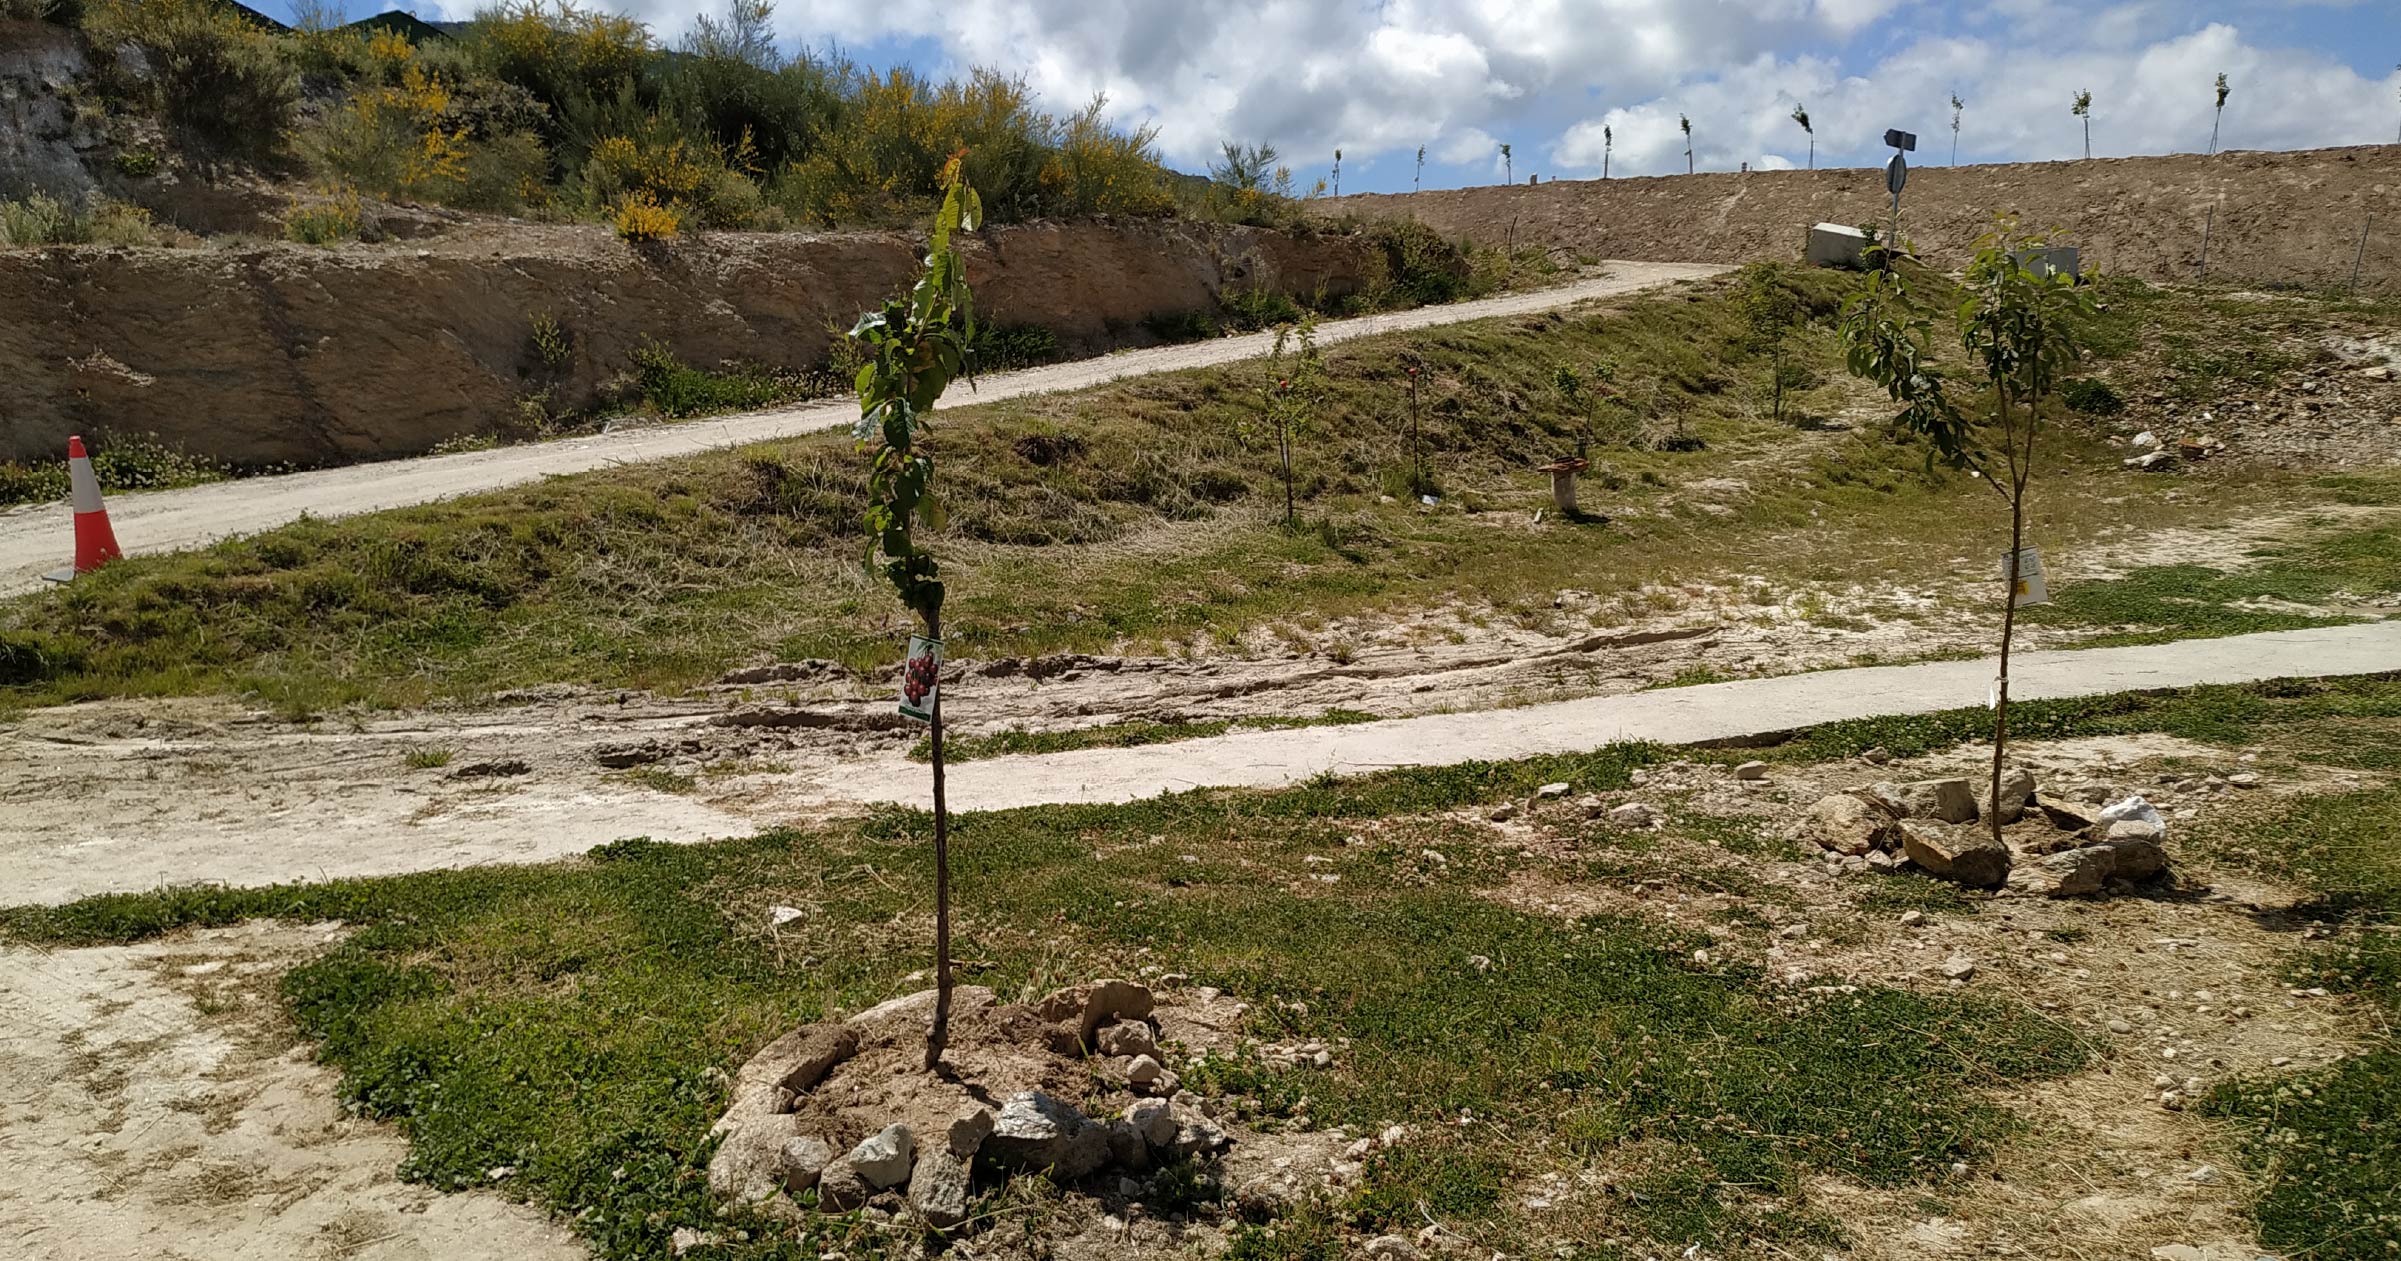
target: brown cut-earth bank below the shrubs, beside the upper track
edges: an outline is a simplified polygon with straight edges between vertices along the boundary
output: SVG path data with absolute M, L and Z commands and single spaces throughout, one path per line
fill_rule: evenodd
M 828 327 L 898 293 L 905 233 L 713 233 L 631 250 L 605 228 L 480 223 L 399 245 L 0 250 L 0 459 L 70 432 L 156 432 L 235 464 L 346 464 L 583 406 L 658 339 L 691 365 L 812 367 Z M 1150 336 L 1220 293 L 1347 295 L 1381 264 L 1357 235 L 1174 221 L 1032 223 L 968 245 L 977 315 L 1061 351 Z M 567 334 L 547 363 L 533 322 Z

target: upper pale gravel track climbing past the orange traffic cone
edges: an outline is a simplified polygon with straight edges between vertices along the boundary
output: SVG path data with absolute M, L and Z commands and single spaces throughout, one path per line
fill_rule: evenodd
M 1417 307 L 1385 315 L 1333 319 L 1318 327 L 1318 343 L 1349 341 L 1467 319 L 1553 310 L 1592 298 L 1616 298 L 1673 281 L 1717 276 L 1714 264 L 1686 262 L 1609 262 L 1597 279 L 1534 293 L 1508 293 L 1445 307 Z M 1083 389 L 1150 372 L 1213 367 L 1261 358 L 1273 346 L 1270 334 L 1227 336 L 1186 346 L 1126 351 L 1078 363 L 1004 372 L 980 382 L 977 399 L 1018 399 L 1059 389 Z M 118 543 L 127 552 L 175 552 L 202 548 L 218 538 L 257 533 L 300 516 L 353 516 L 480 490 L 502 490 L 559 473 L 583 473 L 617 464 L 689 456 L 718 447 L 766 442 L 831 430 L 857 420 L 857 404 L 836 399 L 800 408 L 720 416 L 679 425 L 651 425 L 612 435 L 461 452 L 451 456 L 353 464 L 281 478 L 243 478 L 230 483 L 161 490 L 154 495 L 118 495 L 108 504 Z M 72 519 L 65 504 L 38 504 L 0 512 L 0 596 L 41 586 L 41 574 L 58 569 L 72 555 Z

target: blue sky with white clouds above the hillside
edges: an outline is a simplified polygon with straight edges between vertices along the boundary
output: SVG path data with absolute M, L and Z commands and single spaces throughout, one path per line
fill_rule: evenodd
M 672 41 L 723 0 L 603 0 Z M 286 10 L 286 2 L 262 5 Z M 382 5 L 351 0 L 363 17 Z M 468 17 L 478 0 L 423 0 Z M 2202 151 L 2223 72 L 2223 147 L 2307 149 L 2401 137 L 2394 0 L 783 0 L 788 48 L 869 65 L 1023 74 L 1054 108 L 1107 94 L 1172 166 L 1222 139 L 1275 144 L 1304 183 L 1345 151 L 1342 187 L 1683 171 L 1678 115 L 1705 171 L 1880 163 L 1885 127 L 1918 163 L 2084 151 Z

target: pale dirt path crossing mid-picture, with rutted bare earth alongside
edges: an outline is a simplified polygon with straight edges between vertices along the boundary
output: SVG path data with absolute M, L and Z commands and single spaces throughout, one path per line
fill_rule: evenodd
M 1313 689 L 1371 689 L 1369 704 L 1381 706 L 1429 682 L 1457 687 L 1453 694 L 1467 699 L 1491 692 L 1486 706 L 1508 704 L 1501 694 L 1575 694 L 1594 682 L 1618 694 L 963 761 L 951 769 L 951 802 L 960 809 L 1121 802 L 1205 785 L 1273 788 L 1325 771 L 1594 749 L 1611 740 L 1731 740 L 1870 713 L 1974 706 L 1993 677 L 1988 661 L 1935 661 L 1633 689 L 1645 661 L 1652 677 L 1661 677 L 1683 661 L 1676 649 L 1707 644 L 1710 637 L 1652 644 L 1616 637 L 1515 668 L 1443 658 L 1390 677 L 1373 677 L 1373 663 L 1359 673 L 1359 663 L 1270 661 L 1225 673 L 1215 663 L 1176 663 L 1184 675 L 1145 680 L 1138 661 L 1078 658 L 1044 680 L 965 680 L 953 697 L 963 711 L 1054 721 L 1083 711 L 1078 697 L 1148 687 L 1191 706 L 1186 713 L 1234 713 L 1205 709 L 1205 694 L 1249 697 L 1277 670 L 1311 697 L 1268 701 L 1253 713 L 1323 709 L 1325 697 Z M 2017 697 L 2360 675 L 2401 670 L 2401 620 L 2048 651 L 2019 661 Z M 1594 670 L 1599 675 L 1589 675 Z M 1457 677 L 1438 682 L 1445 675 Z M 624 836 L 749 836 L 867 802 L 917 802 L 927 785 L 924 766 L 908 759 L 917 730 L 891 716 L 888 692 L 872 680 L 807 677 L 728 685 L 672 701 L 559 689 L 497 709 L 360 716 L 312 728 L 223 699 L 34 711 L 0 730 L 0 783 L 7 785 L 0 788 L 0 889 L 12 903 L 65 903 L 161 884 L 250 886 L 543 862 Z M 442 757 L 437 766 L 411 764 L 411 754 L 430 749 Z

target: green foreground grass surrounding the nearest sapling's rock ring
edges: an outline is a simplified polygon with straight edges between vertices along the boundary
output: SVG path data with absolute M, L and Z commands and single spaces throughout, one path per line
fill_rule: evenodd
M 1378 1158 L 1337 1223 L 1311 1235 L 1301 1218 L 1277 1247 L 1335 1225 L 1397 1230 L 1419 1203 L 1450 1223 L 1498 1220 L 1503 1189 L 1541 1167 L 1532 1151 L 1570 1122 L 1592 1155 L 1673 1146 L 1710 1187 L 1741 1189 L 1726 1213 L 1801 1196 L 1820 1175 L 1909 1184 L 2012 1129 L 1981 1086 L 2082 1064 L 2077 1038 L 2024 1006 L 1803 997 L 1750 968 L 1693 963 L 1705 939 L 1652 922 L 1563 922 L 1445 884 L 1292 891 L 1292 855 L 1328 843 L 1328 821 L 1477 783 L 1412 771 L 1364 788 L 963 814 L 958 951 L 980 961 L 968 980 L 1016 994 L 1152 961 L 1244 994 L 1261 1038 L 1347 1038 L 1337 1071 L 1282 1074 L 1282 1088 L 1306 1093 L 1321 1124 L 1400 1122 L 1421 1139 Z M 1143 843 L 1162 831 L 1174 845 Z M 752 1230 L 725 1254 L 776 1256 L 797 1247 L 792 1227 L 718 1218 L 691 1177 L 725 1102 L 715 1074 L 792 1023 L 888 997 L 922 966 L 922 814 L 896 809 L 735 843 L 622 841 L 550 867 L 94 898 L 7 925 L 89 939 L 341 918 L 358 932 L 286 992 L 343 1095 L 411 1136 L 406 1177 L 463 1187 L 516 1165 L 516 1187 L 576 1218 L 610 1259 L 663 1256 L 679 1225 Z M 1095 845 L 1112 857 L 1095 862 Z M 795 881 L 821 915 L 771 946 L 766 906 Z M 1962 1045 L 1976 1057 L 1954 1054 Z M 1719 1208 L 1695 1218 L 1719 1220 Z

